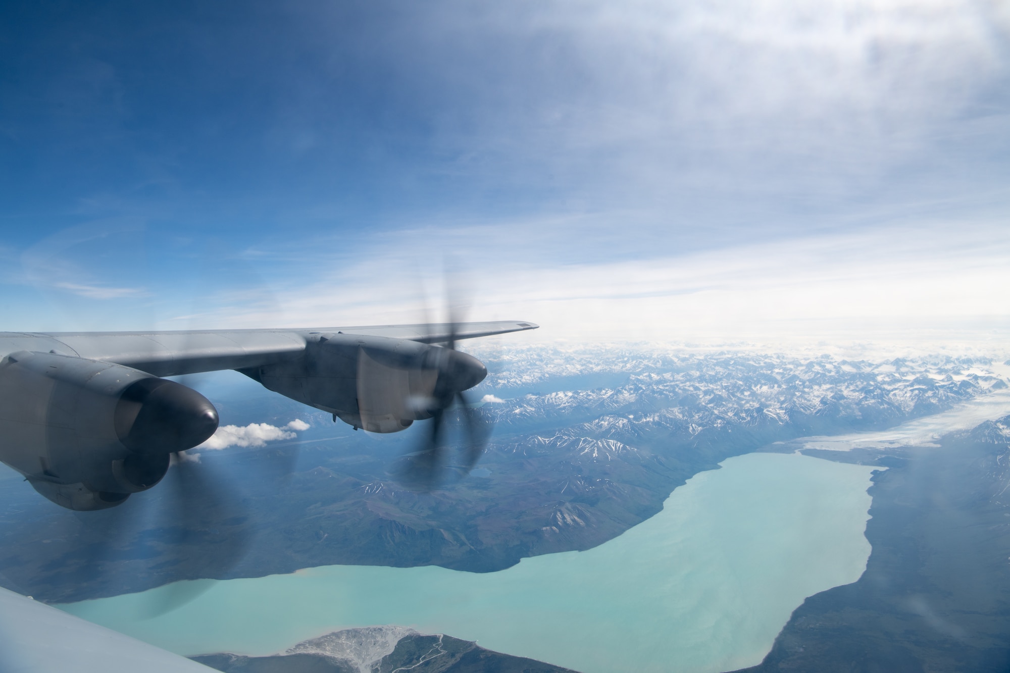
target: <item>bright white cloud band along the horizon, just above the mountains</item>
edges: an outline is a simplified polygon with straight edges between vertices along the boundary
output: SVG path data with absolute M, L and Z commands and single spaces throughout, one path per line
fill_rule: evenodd
M 979 338 L 1005 336 L 1010 327 L 1010 229 L 999 220 L 892 225 L 567 265 L 517 262 L 521 235 L 511 247 L 476 227 L 461 237 L 495 251 L 473 279 L 468 319 L 540 324 L 505 343 L 940 341 L 973 329 Z M 281 294 L 289 324 L 422 321 L 418 298 L 403 293 L 416 285 L 405 269 L 411 259 L 437 256 L 422 236 L 405 234 L 402 248 L 384 243 L 383 255 L 363 255 L 315 287 Z M 352 299 L 334 305 L 330 287 L 346 288 L 343 295 Z M 277 317 L 232 319 L 234 326 L 262 327 Z M 978 330 L 979 320 L 991 326 Z

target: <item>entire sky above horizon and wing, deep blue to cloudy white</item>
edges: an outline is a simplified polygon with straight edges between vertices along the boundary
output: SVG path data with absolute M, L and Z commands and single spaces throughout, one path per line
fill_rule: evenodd
M 416 321 L 449 259 L 544 339 L 1010 331 L 1003 3 L 6 3 L 0 63 L 5 329 Z

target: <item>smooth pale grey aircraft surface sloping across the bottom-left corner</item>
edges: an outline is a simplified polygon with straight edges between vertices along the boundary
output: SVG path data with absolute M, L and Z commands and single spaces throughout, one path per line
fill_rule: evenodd
M 0 588 L 3 673 L 209 673 L 213 670 Z

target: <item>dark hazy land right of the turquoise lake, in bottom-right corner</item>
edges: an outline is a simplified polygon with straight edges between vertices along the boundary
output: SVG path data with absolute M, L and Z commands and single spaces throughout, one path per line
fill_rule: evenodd
M 1010 670 L 1010 416 L 878 464 L 860 581 L 809 597 L 748 671 Z M 813 455 L 830 452 L 805 452 Z

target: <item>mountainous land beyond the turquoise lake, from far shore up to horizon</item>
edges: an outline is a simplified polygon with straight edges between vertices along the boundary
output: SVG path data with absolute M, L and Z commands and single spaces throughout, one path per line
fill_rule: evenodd
M 333 564 L 492 572 L 610 540 L 730 456 L 887 427 L 1005 386 L 976 371 L 985 363 L 949 358 L 530 349 L 489 365 L 476 392 L 503 401 L 484 406 L 495 434 L 464 480 L 431 493 L 404 488 L 398 459 L 422 428 L 354 432 L 234 375 L 207 387 L 222 424 L 297 417 L 312 427 L 299 443 L 196 452 L 200 464 L 185 467 L 197 487 L 182 488 L 174 468 L 105 511 L 63 510 L 7 475 L 0 573 L 7 586 L 67 602 Z

